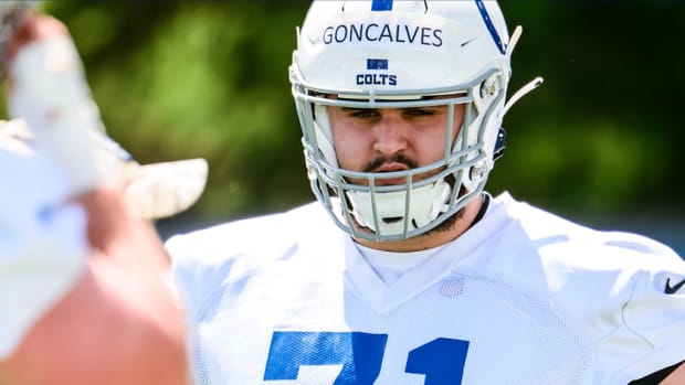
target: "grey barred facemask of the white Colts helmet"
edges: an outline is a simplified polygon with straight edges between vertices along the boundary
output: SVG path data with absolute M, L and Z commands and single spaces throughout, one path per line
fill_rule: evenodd
M 484 74 L 483 77 L 489 74 Z M 354 237 L 375 242 L 407 239 L 438 227 L 454 216 L 483 191 L 492 168 L 484 150 L 487 120 L 493 108 L 503 101 L 474 103 L 479 79 L 449 92 L 423 93 L 420 98 L 401 95 L 338 95 L 294 89 L 303 125 L 303 145 L 312 190 L 328 208 L 338 226 Z M 442 95 L 441 95 L 442 94 Z M 426 96 L 441 95 L 440 98 Z M 344 96 L 344 97 L 341 97 Z M 461 127 L 454 125 L 457 105 L 464 105 Z M 446 106 L 445 138 L 442 158 L 430 164 L 392 172 L 363 172 L 340 168 L 336 158 L 327 106 L 350 108 L 412 108 Z M 371 107 L 372 106 L 372 107 Z M 485 107 L 485 110 L 482 110 Z M 456 136 L 454 135 L 455 132 Z M 454 139 L 453 139 L 454 138 Z M 487 140 L 492 141 L 492 140 Z M 417 180 L 417 175 L 430 177 Z M 404 179 L 404 184 L 383 185 L 383 180 Z M 359 183 L 358 181 L 365 181 Z

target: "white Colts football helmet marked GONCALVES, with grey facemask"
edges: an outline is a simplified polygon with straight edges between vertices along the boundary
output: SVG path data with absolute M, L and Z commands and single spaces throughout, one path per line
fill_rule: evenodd
M 434 228 L 483 191 L 504 150 L 509 57 L 519 33 L 509 40 L 496 1 L 314 1 L 289 77 L 312 190 L 338 226 L 358 238 L 405 239 Z M 457 104 L 465 105 L 461 128 L 452 127 Z M 339 167 L 326 106 L 436 105 L 449 107 L 441 160 L 387 173 Z M 433 175 L 412 181 L 428 171 Z M 378 183 L 396 178 L 407 183 Z

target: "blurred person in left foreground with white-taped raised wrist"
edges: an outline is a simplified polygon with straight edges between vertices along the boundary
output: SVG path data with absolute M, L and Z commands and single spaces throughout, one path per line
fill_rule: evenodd
M 183 312 L 149 221 L 165 211 L 127 192 L 144 167 L 106 137 L 65 26 L 10 3 L 0 6 L 15 118 L 0 125 L 0 384 L 190 384 Z

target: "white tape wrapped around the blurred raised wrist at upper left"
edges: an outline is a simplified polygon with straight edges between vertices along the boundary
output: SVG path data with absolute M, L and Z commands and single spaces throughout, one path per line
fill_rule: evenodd
M 103 179 L 105 167 L 94 156 L 86 132 L 104 127 L 71 39 L 27 44 L 10 63 L 9 74 L 10 115 L 23 118 L 35 147 L 66 171 L 71 195 L 92 189 Z

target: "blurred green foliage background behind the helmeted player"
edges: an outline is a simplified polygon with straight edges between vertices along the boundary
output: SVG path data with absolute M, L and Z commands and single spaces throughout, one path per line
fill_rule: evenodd
M 287 66 L 303 1 L 50 1 L 109 133 L 141 162 L 207 158 L 205 221 L 313 199 Z M 685 2 L 505 1 L 524 34 L 494 193 L 587 216 L 683 213 Z M 331 72 L 335 68 L 331 68 Z

